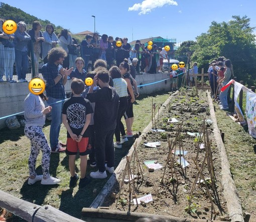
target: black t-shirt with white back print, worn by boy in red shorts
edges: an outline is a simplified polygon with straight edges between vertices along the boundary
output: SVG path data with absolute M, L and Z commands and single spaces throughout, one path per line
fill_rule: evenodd
M 82 97 L 71 97 L 64 102 L 62 113 L 67 115 L 67 121 L 72 132 L 78 136 L 84 127 L 86 115 L 93 113 L 93 110 L 89 100 Z M 67 137 L 71 137 L 68 132 Z M 83 137 L 89 137 L 88 128 L 85 130 Z

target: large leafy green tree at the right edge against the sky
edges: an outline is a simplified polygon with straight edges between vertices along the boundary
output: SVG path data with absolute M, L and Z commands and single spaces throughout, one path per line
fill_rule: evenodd
M 254 28 L 249 22 L 246 16 L 232 16 L 227 23 L 212 22 L 208 32 L 196 38 L 192 61 L 207 70 L 211 60 L 224 56 L 231 60 L 237 81 L 253 85 L 256 79 L 256 45 Z

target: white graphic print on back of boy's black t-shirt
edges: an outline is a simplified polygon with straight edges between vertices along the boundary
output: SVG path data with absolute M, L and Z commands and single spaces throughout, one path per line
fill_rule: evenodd
M 70 120 L 69 125 L 75 129 L 82 128 L 86 121 L 86 108 L 80 103 L 71 104 L 67 108 L 67 118 Z

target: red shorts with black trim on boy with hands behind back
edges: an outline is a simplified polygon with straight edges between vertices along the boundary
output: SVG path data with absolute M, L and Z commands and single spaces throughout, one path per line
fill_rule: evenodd
M 67 138 L 66 153 L 68 155 L 76 155 L 77 151 L 79 151 L 80 156 L 90 153 L 91 145 L 89 143 L 89 137 L 83 137 L 79 143 L 72 138 Z

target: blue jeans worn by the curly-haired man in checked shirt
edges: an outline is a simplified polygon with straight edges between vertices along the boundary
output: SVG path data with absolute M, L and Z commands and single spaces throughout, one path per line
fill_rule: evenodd
M 47 104 L 52 107 L 52 123 L 50 127 L 50 145 L 54 149 L 59 143 L 60 125 L 62 122 L 61 113 L 64 100 L 48 97 Z M 58 103 L 56 103 L 58 102 Z

